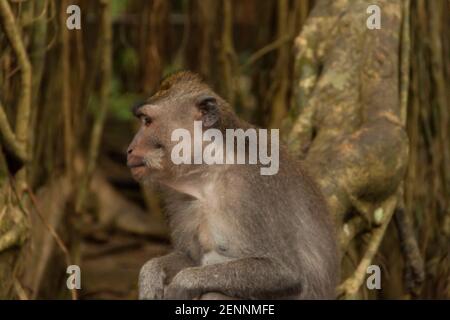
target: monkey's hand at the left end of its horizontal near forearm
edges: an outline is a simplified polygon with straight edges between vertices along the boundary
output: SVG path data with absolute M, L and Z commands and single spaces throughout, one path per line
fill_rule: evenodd
M 192 300 L 200 298 L 202 292 L 198 286 L 195 270 L 197 268 L 187 268 L 181 270 L 166 286 L 164 299 Z

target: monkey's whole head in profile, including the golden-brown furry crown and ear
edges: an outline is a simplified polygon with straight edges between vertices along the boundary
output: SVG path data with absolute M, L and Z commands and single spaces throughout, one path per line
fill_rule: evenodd
M 156 93 L 136 105 L 133 113 L 141 126 L 128 147 L 127 165 L 141 182 L 170 181 L 199 166 L 172 162 L 172 148 L 177 144 L 171 139 L 174 130 L 185 129 L 193 137 L 194 121 L 202 121 L 206 130 L 230 128 L 235 119 L 220 96 L 198 75 L 185 71 L 165 78 Z

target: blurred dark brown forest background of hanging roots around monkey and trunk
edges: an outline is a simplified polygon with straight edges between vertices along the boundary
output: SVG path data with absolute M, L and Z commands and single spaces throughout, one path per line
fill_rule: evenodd
M 354 1 L 364 16 L 372 2 Z M 371 257 L 382 289 L 360 283 L 356 297 L 449 299 L 450 2 L 394 2 L 396 38 L 407 45 L 391 52 L 402 62 L 395 77 L 409 138 L 402 210 L 419 257 L 405 269 L 404 220 L 390 223 Z M 290 131 L 305 107 L 303 58 L 315 58 L 302 53 L 300 35 L 309 32 L 326 56 L 325 38 L 308 35 L 320 17 L 345 14 L 348 1 L 336 3 L 0 0 L 0 297 L 136 298 L 139 268 L 170 240 L 158 193 L 125 165 L 139 125 L 132 105 L 187 69 L 245 120 Z M 66 27 L 72 4 L 79 30 Z M 355 232 L 343 250 L 343 280 L 365 256 L 367 233 Z M 82 289 L 72 292 L 71 264 L 82 271 Z

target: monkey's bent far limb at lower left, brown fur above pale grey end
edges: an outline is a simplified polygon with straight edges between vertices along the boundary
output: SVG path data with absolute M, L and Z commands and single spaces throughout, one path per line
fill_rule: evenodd
M 164 287 L 180 270 L 192 266 L 194 261 L 178 251 L 147 261 L 139 273 L 139 299 L 163 299 Z

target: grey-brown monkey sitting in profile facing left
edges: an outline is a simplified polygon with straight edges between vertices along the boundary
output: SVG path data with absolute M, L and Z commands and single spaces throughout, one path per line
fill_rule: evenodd
M 333 299 L 339 253 L 320 190 L 280 144 L 279 170 L 261 164 L 174 164 L 171 133 L 254 128 L 197 74 L 174 73 L 133 108 L 134 179 L 161 189 L 173 252 L 139 273 L 139 299 Z

